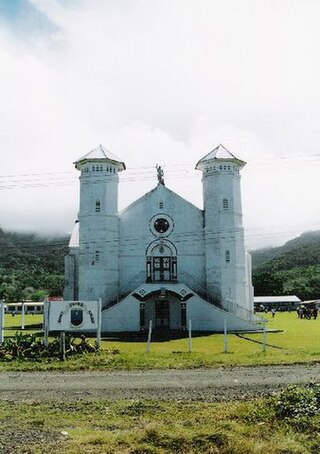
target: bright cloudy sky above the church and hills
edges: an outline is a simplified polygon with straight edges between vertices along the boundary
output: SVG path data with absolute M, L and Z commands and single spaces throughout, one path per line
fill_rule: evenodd
M 70 232 L 73 162 L 127 165 L 120 208 L 157 184 L 202 206 L 196 162 L 242 172 L 249 248 L 320 228 L 318 0 L 0 0 L 0 226 Z

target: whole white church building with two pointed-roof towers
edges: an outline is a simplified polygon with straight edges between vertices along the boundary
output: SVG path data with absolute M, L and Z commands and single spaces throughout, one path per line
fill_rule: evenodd
M 240 170 L 222 145 L 196 164 L 203 210 L 158 183 L 118 211 L 124 162 L 99 146 L 75 162 L 80 209 L 65 258 L 68 301 L 102 299 L 103 332 L 259 329 L 245 251 Z

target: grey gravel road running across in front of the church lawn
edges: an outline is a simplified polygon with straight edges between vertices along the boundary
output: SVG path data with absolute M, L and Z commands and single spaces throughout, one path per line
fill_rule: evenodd
M 1 400 L 139 399 L 225 401 L 320 382 L 320 364 L 130 372 L 0 373 Z

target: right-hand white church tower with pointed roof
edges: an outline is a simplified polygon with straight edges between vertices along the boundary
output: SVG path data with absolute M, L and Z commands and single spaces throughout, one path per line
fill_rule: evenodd
M 196 165 L 202 171 L 207 292 L 225 309 L 251 310 L 240 192 L 245 164 L 220 144 Z

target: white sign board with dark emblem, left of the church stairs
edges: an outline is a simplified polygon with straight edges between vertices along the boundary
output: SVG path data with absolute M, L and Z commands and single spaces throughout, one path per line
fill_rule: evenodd
M 87 332 L 100 329 L 100 301 L 50 301 L 48 331 Z

